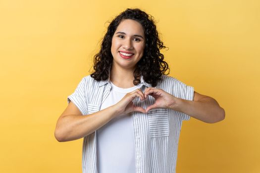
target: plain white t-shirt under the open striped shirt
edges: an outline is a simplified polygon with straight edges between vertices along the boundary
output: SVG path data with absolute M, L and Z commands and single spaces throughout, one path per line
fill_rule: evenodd
M 101 110 L 119 102 L 141 85 L 121 88 L 111 84 L 111 91 Z M 120 115 L 97 130 L 98 173 L 135 173 L 135 138 L 132 114 Z

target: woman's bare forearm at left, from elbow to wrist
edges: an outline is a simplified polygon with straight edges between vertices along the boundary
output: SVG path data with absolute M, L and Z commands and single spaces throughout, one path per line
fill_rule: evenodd
M 60 142 L 76 140 L 100 129 L 117 115 L 110 106 L 89 115 L 66 115 L 61 117 L 55 129 L 55 137 Z

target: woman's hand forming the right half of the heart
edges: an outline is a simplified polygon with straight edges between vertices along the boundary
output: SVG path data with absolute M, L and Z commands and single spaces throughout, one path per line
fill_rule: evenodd
M 171 108 L 176 103 L 176 97 L 169 94 L 168 92 L 165 92 L 162 89 L 154 88 L 154 87 L 148 87 L 145 89 L 145 99 L 148 95 L 151 95 L 155 98 L 155 103 L 153 105 L 150 105 L 146 108 L 146 113 L 151 109 L 156 108 Z

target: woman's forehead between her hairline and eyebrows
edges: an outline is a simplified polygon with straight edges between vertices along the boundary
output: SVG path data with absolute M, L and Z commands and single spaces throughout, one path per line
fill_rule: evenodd
M 116 28 L 116 32 L 124 32 L 126 34 L 139 34 L 144 36 L 143 26 L 132 19 L 124 19 L 122 20 Z

